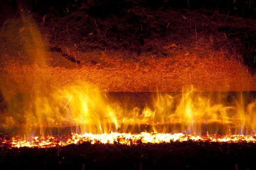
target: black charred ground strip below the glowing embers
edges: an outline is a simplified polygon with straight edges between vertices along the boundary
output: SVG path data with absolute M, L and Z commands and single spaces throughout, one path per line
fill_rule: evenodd
M 173 142 L 163 144 L 70 145 L 48 149 L 0 148 L 0 166 L 28 170 L 253 170 L 254 143 Z

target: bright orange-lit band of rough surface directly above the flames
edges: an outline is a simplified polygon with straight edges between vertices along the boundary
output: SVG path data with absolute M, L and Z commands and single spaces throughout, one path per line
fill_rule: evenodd
M 112 67 L 82 66 L 80 68 L 38 67 L 34 64 L 6 64 L 1 76 L 9 90 L 30 93 L 33 89 L 67 85 L 74 82 L 88 84 L 117 92 L 181 91 L 193 85 L 201 91 L 252 91 L 256 90 L 255 77 L 235 59 L 215 53 L 214 57 L 196 54 L 167 58 L 144 57 L 137 62 L 115 60 L 104 54 Z M 143 58 L 143 56 L 141 56 Z M 52 61 L 55 62 L 55 61 Z M 16 90 L 16 92 L 17 92 Z

